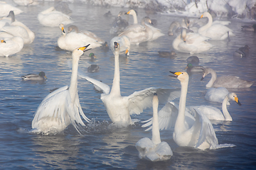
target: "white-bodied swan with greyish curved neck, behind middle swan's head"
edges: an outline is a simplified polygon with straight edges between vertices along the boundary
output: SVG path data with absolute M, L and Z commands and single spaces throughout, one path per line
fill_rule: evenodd
M 124 30 L 124 32 L 120 33 L 118 36 L 122 37 L 123 35 L 126 35 L 129 38 L 129 42 L 136 45 L 151 40 L 154 33 L 153 30 L 151 30 L 151 28 L 149 28 L 149 26 L 145 24 L 145 22 L 151 23 L 150 18 L 147 16 L 142 18 L 142 25 L 130 25 Z

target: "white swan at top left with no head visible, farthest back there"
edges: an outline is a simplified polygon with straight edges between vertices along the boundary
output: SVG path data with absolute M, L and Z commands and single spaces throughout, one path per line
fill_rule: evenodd
M 53 6 L 41 13 L 38 13 L 38 21 L 41 25 L 49 27 L 58 27 L 60 23 L 63 23 L 63 25 L 73 23 L 70 16 L 61 13 L 60 11 L 55 11 Z

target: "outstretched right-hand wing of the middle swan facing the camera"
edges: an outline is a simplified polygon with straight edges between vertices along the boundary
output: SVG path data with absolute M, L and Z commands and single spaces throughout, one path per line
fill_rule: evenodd
M 159 97 L 159 103 L 166 103 L 166 101 L 172 101 L 181 96 L 181 89 L 161 89 L 150 87 L 142 91 L 135 91 L 130 96 L 127 96 L 129 101 L 129 113 L 139 114 L 142 113 L 144 108 L 151 107 L 154 93 Z

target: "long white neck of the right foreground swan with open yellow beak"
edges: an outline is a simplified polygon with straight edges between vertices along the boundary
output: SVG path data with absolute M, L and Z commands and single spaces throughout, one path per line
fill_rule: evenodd
M 188 92 L 188 80 L 181 81 L 181 98 L 178 106 L 178 116 L 176 119 L 174 132 L 183 132 L 185 128 L 185 109 L 186 109 L 186 95 Z

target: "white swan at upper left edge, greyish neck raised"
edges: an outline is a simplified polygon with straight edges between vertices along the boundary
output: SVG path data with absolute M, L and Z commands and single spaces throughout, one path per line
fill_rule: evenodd
M 19 36 L 23 38 L 23 42 L 25 45 L 31 44 L 35 39 L 35 36 L 36 36 L 35 33 L 33 33 L 33 31 L 31 31 L 23 23 L 15 20 L 14 11 L 10 11 L 9 16 L 11 16 L 11 25 L 4 26 L 3 28 L 0 29 L 1 30 L 0 36 L 6 37 L 6 38 Z M 5 34 L 3 34 L 3 32 Z

